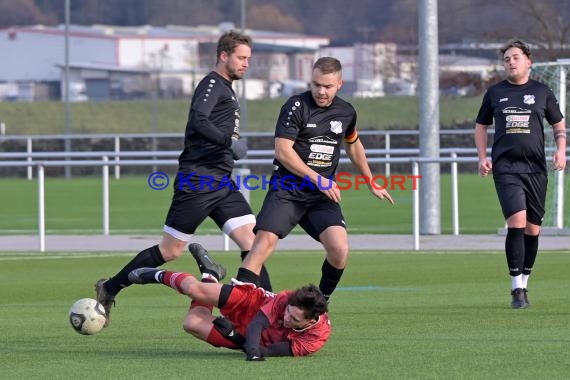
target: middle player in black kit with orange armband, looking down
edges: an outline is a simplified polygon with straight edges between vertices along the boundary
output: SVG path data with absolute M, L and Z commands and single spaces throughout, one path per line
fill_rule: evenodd
M 348 258 L 348 236 L 334 174 L 341 143 L 361 175 L 372 178 L 356 131 L 356 111 L 337 97 L 342 86 L 341 63 L 331 57 L 313 65 L 310 91 L 289 98 L 275 129 L 275 171 L 255 225 L 255 241 L 238 271 L 238 280 L 258 281 L 263 263 L 279 239 L 299 224 L 326 251 L 319 288 L 328 299 Z M 369 184 L 379 199 L 392 197 Z

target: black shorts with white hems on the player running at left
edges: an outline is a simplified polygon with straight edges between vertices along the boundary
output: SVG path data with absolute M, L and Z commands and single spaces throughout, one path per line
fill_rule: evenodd
M 242 225 L 255 223 L 249 203 L 235 186 L 196 186 L 195 189 L 180 190 L 177 178 L 164 231 L 179 240 L 188 241 L 208 216 L 226 234 Z

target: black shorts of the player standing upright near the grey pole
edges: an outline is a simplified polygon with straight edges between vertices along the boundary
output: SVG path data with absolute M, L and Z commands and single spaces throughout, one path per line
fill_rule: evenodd
M 548 177 L 544 173 L 493 174 L 503 216 L 526 210 L 526 219 L 542 224 Z

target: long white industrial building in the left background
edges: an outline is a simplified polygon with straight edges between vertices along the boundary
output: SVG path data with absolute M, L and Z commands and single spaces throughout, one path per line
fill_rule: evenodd
M 69 28 L 70 99 L 190 94 L 215 63 L 216 42 L 232 24 L 219 26 Z M 247 30 L 254 39 L 249 85 L 310 78 L 310 65 L 329 39 L 292 33 Z M 19 97 L 62 96 L 65 27 L 28 26 L 0 30 L 0 83 L 17 86 Z M 267 87 L 267 85 L 265 85 Z M 251 94 L 255 94 L 253 91 Z M 0 91 L 1 94 L 1 91 Z

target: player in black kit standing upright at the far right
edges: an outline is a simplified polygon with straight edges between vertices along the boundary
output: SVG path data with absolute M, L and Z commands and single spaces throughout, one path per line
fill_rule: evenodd
M 518 40 L 501 49 L 507 79 L 487 90 L 475 124 L 479 173 L 493 172 L 495 189 L 507 221 L 505 251 L 511 276 L 511 307 L 528 302 L 527 282 L 538 252 L 544 216 L 547 172 L 544 152 L 546 119 L 554 130 L 555 170 L 566 167 L 564 117 L 552 91 L 530 79 L 531 52 Z M 495 121 L 495 138 L 487 159 L 487 127 Z

